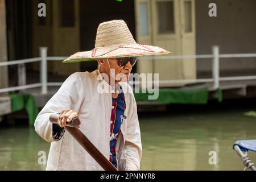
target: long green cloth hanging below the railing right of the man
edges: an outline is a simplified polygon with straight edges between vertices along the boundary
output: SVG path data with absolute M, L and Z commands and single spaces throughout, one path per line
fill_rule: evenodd
M 136 101 L 170 102 L 173 104 L 207 104 L 209 90 L 203 89 L 169 89 L 159 88 L 159 97 L 156 100 L 148 100 L 148 96 L 154 93 L 134 93 Z

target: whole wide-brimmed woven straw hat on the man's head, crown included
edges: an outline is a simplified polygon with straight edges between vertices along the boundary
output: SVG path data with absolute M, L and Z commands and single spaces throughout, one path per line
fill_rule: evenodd
M 92 51 L 77 52 L 65 59 L 63 63 L 167 53 L 170 52 L 160 47 L 136 43 L 123 20 L 112 20 L 100 23 L 98 26 L 95 48 Z

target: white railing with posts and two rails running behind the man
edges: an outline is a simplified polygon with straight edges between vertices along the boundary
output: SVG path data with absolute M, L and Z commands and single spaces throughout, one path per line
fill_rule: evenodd
M 8 65 L 22 65 L 18 67 L 19 72 L 19 86 L 9 87 L 0 89 L 0 93 L 10 92 L 14 90 L 24 90 L 30 88 L 41 87 L 41 93 L 46 94 L 48 86 L 60 86 L 62 82 L 48 82 L 47 79 L 47 62 L 48 61 L 59 61 L 64 60 L 66 57 L 51 57 L 47 56 L 47 47 L 40 47 L 40 57 L 6 61 L 0 63 L 1 66 Z M 230 58 L 230 57 L 256 57 L 256 53 L 237 53 L 237 54 L 220 54 L 219 47 L 212 47 L 211 55 L 179 55 L 179 56 L 145 56 L 143 59 L 212 59 L 212 78 L 200 78 L 200 79 L 185 79 L 185 80 L 160 80 L 159 84 L 177 84 L 177 83 L 188 83 L 188 82 L 213 82 L 213 89 L 218 89 L 220 87 L 220 81 L 234 81 L 234 80 L 256 80 L 256 75 L 254 76 L 233 76 L 233 77 L 220 77 L 220 58 Z M 36 84 L 26 85 L 26 67 L 25 63 L 33 63 L 40 61 L 40 82 Z M 130 84 L 130 82 L 129 82 Z M 137 84 L 136 82 L 132 84 Z

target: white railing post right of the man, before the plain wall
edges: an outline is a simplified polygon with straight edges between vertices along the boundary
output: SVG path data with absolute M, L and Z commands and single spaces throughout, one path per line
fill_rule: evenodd
M 220 87 L 220 48 L 218 46 L 212 47 L 213 60 L 212 60 L 212 77 L 213 89 Z

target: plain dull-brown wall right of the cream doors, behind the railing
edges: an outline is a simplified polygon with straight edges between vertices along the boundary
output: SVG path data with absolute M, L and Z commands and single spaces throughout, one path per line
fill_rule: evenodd
M 209 17 L 208 5 L 217 5 L 217 17 Z M 212 45 L 220 53 L 256 52 L 255 0 L 196 0 L 196 50 L 209 54 Z M 256 58 L 220 59 L 221 73 L 255 73 Z M 210 59 L 197 60 L 197 73 L 209 72 Z

